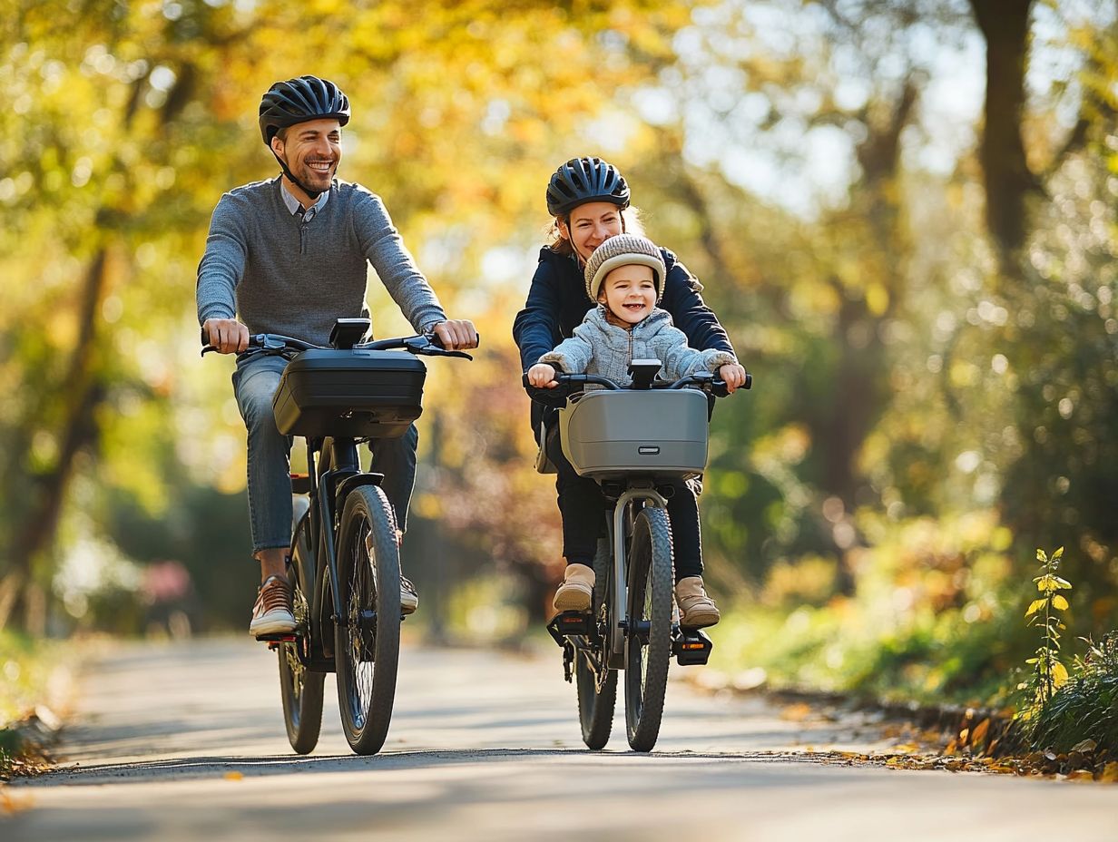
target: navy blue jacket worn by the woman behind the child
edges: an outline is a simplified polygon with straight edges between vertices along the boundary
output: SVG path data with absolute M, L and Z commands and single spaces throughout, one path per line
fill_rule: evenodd
M 659 306 L 671 314 L 672 322 L 686 334 L 691 348 L 700 351 L 717 348 L 733 353 L 733 346 L 718 323 L 718 316 L 699 294 L 702 286 L 674 254 L 666 248 L 660 250 L 667 275 Z M 521 368 L 528 371 L 540 357 L 574 335 L 575 328 L 582 323 L 591 306 L 577 258 L 558 254 L 547 246 L 541 248 L 528 301 L 512 324 Z M 532 429 L 537 433 L 542 410 L 540 404 L 532 403 Z

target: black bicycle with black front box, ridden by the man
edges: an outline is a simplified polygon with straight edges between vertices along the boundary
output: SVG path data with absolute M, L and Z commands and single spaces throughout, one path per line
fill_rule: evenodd
M 418 356 L 473 359 L 426 335 L 360 342 L 369 328 L 368 319 L 339 319 L 329 348 L 271 333 L 248 341 L 288 359 L 273 399 L 276 427 L 306 445 L 307 473 L 292 475 L 292 493 L 305 495 L 296 498 L 288 567 L 295 630 L 260 637 L 278 652 L 287 739 L 304 755 L 319 741 L 328 672 L 356 754 L 380 750 L 392 716 L 402 619 L 396 519 L 383 476 L 361 470 L 358 444 L 401 436 L 419 417 Z

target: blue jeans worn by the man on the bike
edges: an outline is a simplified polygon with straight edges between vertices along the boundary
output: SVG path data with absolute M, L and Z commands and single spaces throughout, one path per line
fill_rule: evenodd
M 272 398 L 287 361 L 283 357 L 253 354 L 237 360 L 233 390 L 248 429 L 248 515 L 253 554 L 291 546 L 292 436 L 276 429 Z M 396 510 L 396 523 L 407 529 L 408 504 L 416 477 L 419 433 L 413 424 L 399 438 L 369 442 L 370 471 L 385 475 L 381 488 Z

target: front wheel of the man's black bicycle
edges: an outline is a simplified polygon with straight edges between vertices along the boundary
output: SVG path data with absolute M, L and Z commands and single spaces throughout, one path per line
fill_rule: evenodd
M 371 755 L 388 735 L 400 653 L 396 519 L 376 485 L 361 485 L 345 498 L 338 580 L 342 616 L 334 627 L 334 664 L 342 730 L 353 751 Z

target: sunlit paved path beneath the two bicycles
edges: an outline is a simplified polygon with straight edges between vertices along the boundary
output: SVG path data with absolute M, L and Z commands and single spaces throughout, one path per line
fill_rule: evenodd
M 93 665 L 57 772 L 8 789 L 0 839 L 1118 840 L 1118 786 L 819 761 L 888 748 L 850 718 L 673 682 L 652 755 L 585 750 L 553 657 L 406 649 L 383 751 L 349 753 L 326 680 L 309 757 L 247 641 L 122 645 Z M 673 668 L 676 669 L 676 668 Z

